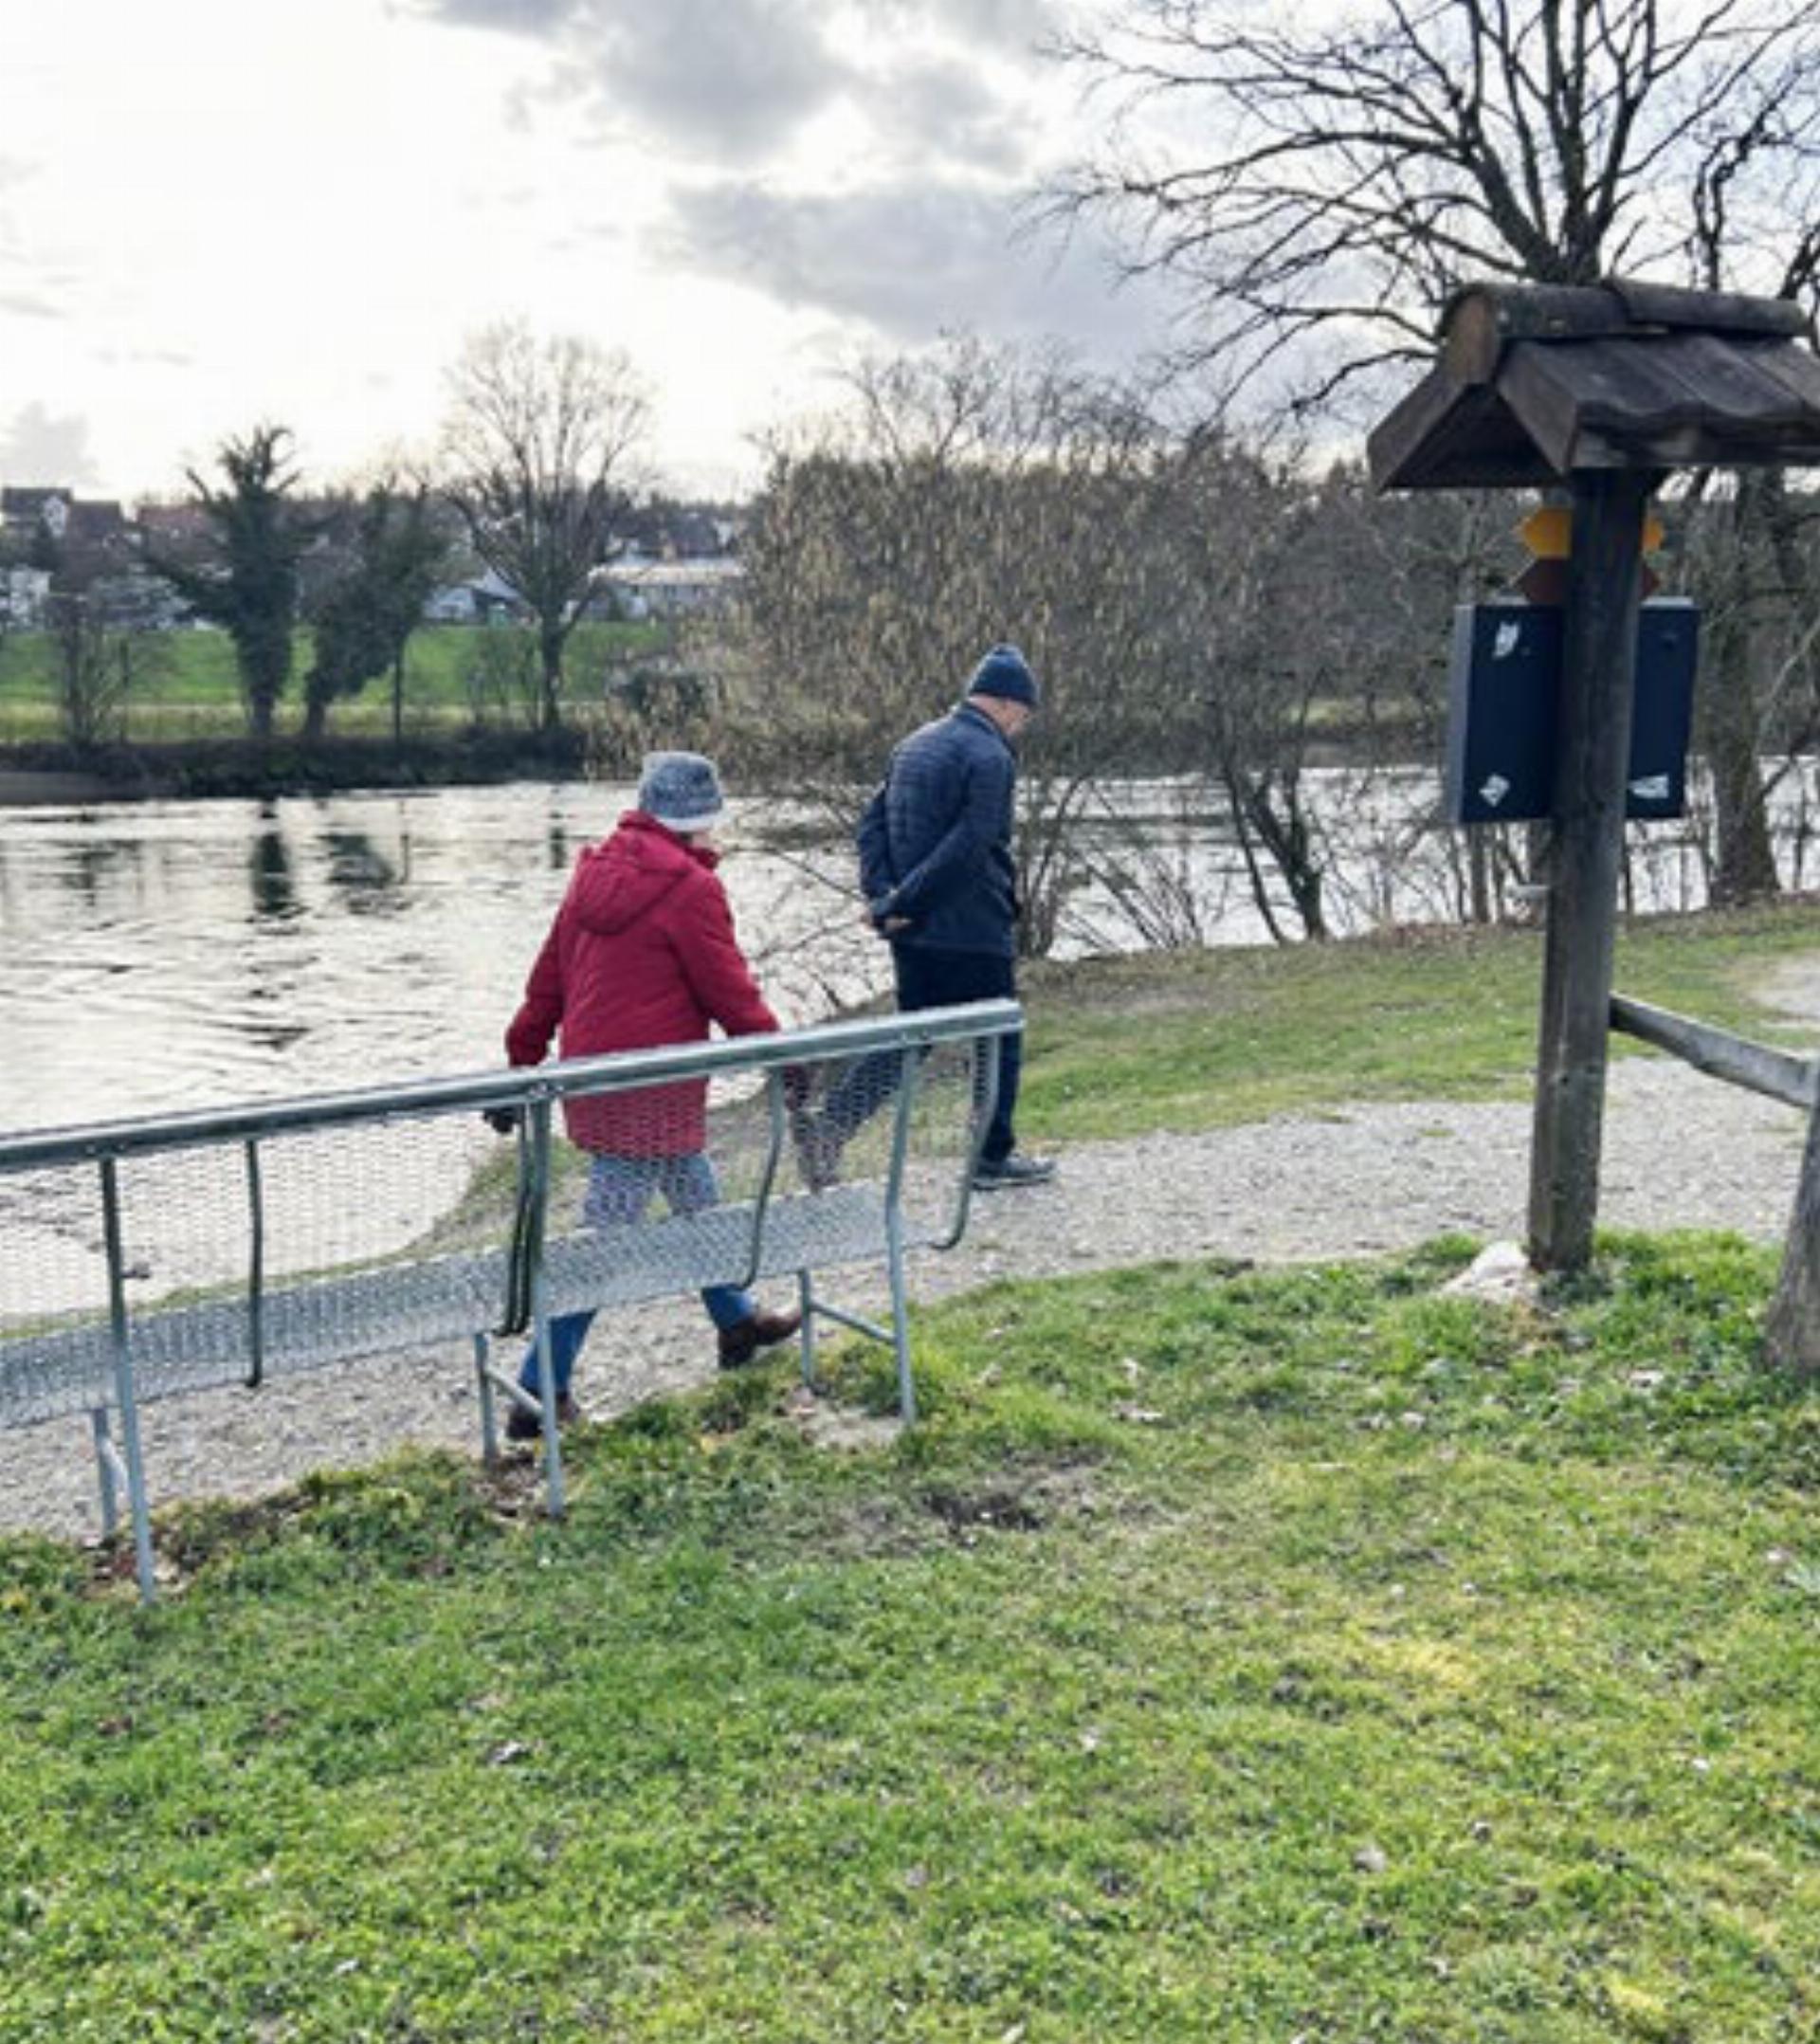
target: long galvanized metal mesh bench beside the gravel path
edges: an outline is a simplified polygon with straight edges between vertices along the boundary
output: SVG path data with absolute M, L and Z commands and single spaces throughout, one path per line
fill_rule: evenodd
M 472 1343 L 562 1451 L 549 1322 L 760 1278 L 891 1343 L 915 1416 L 903 1257 L 964 1226 L 1013 1002 L 0 1139 L 0 1425 L 86 1412 L 151 1594 L 137 1410 L 357 1357 Z M 482 1118 L 507 1122 L 502 1139 Z M 813 1273 L 884 1263 L 891 1322 Z M 492 1359 L 527 1335 L 535 1390 Z M 118 1431 L 118 1439 L 116 1439 Z

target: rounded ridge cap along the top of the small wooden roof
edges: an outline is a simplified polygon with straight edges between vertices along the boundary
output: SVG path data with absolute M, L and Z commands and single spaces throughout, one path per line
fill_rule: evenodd
M 1460 382 L 1489 382 L 1512 341 L 1579 341 L 1650 327 L 1814 337 L 1814 323 L 1795 298 L 1751 298 L 1614 276 L 1599 284 L 1463 284 L 1442 307 L 1440 354 Z

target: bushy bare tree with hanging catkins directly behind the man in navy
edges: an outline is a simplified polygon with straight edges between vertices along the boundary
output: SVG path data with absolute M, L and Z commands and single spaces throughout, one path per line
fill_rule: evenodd
M 1154 429 L 1056 354 L 952 337 L 862 364 L 844 413 L 774 448 L 744 540 L 729 675 L 739 748 L 842 836 L 895 740 L 1015 638 L 1046 711 L 1019 779 L 1019 940 L 1048 950 L 1085 879 L 1097 779 L 1142 728 L 1134 531 Z

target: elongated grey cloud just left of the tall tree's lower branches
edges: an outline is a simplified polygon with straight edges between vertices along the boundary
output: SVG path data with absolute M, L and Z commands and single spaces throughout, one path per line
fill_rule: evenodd
M 725 182 L 676 192 L 672 208 L 670 260 L 864 321 L 891 341 L 968 327 L 1003 339 L 1058 335 L 1103 362 L 1130 362 L 1160 339 L 1154 298 L 1113 290 L 1085 239 L 1019 235 L 1007 192 L 905 180 L 795 196 Z

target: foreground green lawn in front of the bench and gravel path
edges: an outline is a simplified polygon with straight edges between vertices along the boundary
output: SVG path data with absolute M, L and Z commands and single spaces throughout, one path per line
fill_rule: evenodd
M 1546 1312 L 1170 1267 L 574 1441 L 0 1545 L 0 2038 L 1793 2044 L 1812 1398 L 1769 1257 Z M 887 1372 L 837 1359 L 848 1400 Z

